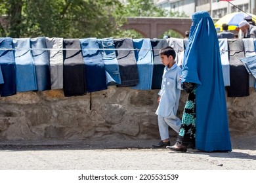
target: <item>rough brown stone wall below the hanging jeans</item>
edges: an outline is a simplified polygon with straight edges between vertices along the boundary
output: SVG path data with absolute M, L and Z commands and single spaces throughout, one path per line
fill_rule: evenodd
M 62 90 L 0 97 L 0 141 L 93 141 L 93 139 L 159 139 L 155 114 L 159 90 L 116 88 L 64 97 Z M 182 91 L 181 118 L 187 94 Z M 256 93 L 226 98 L 230 131 L 255 131 Z

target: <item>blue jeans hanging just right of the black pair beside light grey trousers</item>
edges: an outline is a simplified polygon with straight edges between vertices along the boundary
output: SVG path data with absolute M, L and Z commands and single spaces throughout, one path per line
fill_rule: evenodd
M 85 80 L 87 92 L 108 89 L 106 84 L 105 65 L 96 38 L 79 39 L 85 62 Z

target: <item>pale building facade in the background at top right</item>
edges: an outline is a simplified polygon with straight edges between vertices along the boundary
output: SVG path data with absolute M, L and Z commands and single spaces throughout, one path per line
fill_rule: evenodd
M 156 5 L 172 12 L 184 12 L 191 16 L 199 10 L 206 10 L 212 18 L 221 18 L 232 12 L 249 12 L 255 14 L 256 0 L 234 0 L 227 1 L 217 0 L 158 0 Z

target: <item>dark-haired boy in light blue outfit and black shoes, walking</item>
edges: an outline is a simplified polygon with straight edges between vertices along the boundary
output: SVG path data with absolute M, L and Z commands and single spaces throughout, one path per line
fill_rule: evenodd
M 171 46 L 161 48 L 160 58 L 165 69 L 161 82 L 161 90 L 158 92 L 158 127 L 161 141 L 153 145 L 154 148 L 169 146 L 169 127 L 179 133 L 181 120 L 176 116 L 181 95 L 181 68 L 175 63 L 176 53 Z

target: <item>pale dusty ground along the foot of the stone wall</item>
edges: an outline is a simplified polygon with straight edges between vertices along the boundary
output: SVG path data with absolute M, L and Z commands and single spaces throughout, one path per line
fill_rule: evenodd
M 0 170 L 256 170 L 256 133 L 231 133 L 232 152 L 155 149 L 153 140 L 0 143 Z M 174 144 L 175 138 L 172 139 Z

